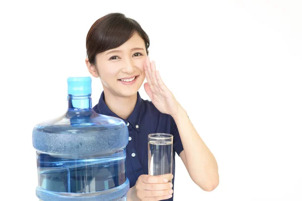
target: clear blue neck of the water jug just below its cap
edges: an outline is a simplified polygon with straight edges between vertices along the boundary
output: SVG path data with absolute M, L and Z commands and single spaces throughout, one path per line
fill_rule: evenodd
M 68 110 L 91 110 L 92 101 L 89 95 L 68 95 Z

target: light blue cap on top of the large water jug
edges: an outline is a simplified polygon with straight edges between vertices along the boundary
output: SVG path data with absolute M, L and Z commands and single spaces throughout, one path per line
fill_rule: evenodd
M 69 95 L 88 95 L 91 94 L 91 77 L 68 77 Z

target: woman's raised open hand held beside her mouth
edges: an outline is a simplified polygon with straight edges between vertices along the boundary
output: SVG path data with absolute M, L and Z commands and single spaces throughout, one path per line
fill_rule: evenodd
M 144 63 L 144 72 L 147 78 L 147 82 L 144 83 L 144 89 L 153 105 L 161 113 L 171 115 L 173 118 L 177 117 L 181 106 L 173 93 L 164 84 L 159 71 L 156 70 L 155 62 L 150 62 L 149 57 L 147 57 Z

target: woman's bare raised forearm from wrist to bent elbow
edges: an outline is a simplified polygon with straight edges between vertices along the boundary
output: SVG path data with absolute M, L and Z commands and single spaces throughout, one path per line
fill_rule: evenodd
M 190 177 L 202 189 L 213 190 L 219 182 L 216 159 L 195 130 L 186 111 L 183 108 L 180 111 L 173 118 L 184 147 Z

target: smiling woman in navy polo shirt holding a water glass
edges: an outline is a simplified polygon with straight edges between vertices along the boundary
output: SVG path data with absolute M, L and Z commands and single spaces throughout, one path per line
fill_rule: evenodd
M 149 38 L 140 25 L 123 14 L 112 13 L 97 20 L 88 32 L 86 64 L 101 79 L 104 91 L 93 108 L 97 113 L 118 117 L 129 130 L 126 147 L 126 176 L 130 181 L 127 200 L 173 200 L 174 179 L 150 176 L 147 135 L 170 133 L 175 153 L 184 162 L 192 180 L 203 190 L 213 190 L 219 182 L 217 163 L 204 144 L 186 111 L 163 83 L 155 62 L 148 58 Z M 151 99 L 143 100 L 138 89 Z

